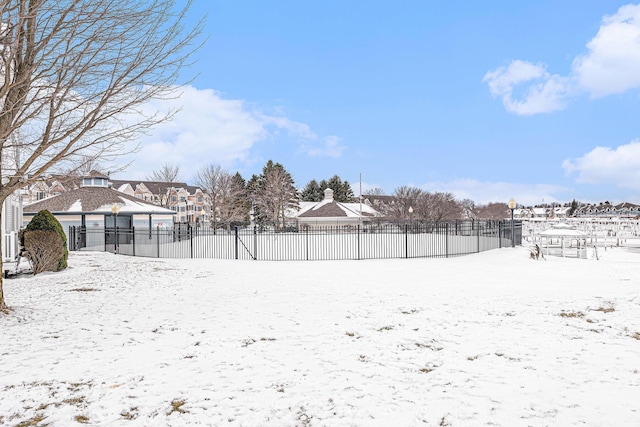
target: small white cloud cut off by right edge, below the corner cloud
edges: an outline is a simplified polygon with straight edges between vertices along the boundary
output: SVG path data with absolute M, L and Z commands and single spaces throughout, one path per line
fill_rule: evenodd
M 615 149 L 596 147 L 582 157 L 565 160 L 562 167 L 567 174 L 577 174 L 578 183 L 640 189 L 640 140 Z

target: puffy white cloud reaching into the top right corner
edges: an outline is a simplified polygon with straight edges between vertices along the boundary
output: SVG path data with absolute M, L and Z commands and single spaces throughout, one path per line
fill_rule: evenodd
M 507 111 L 518 115 L 550 113 L 566 107 L 579 92 L 602 97 L 640 87 L 640 5 L 622 6 L 602 19 L 588 52 L 573 60 L 568 76 L 546 66 L 514 60 L 489 71 L 482 81 Z M 514 95 L 520 89 L 522 96 Z

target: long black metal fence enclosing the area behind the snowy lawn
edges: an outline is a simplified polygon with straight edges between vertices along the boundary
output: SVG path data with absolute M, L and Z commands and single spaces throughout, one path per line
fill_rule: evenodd
M 447 221 L 361 226 L 230 230 L 176 224 L 173 228 L 69 227 L 69 250 L 155 258 L 243 260 L 359 260 L 454 257 L 520 245 L 516 221 Z

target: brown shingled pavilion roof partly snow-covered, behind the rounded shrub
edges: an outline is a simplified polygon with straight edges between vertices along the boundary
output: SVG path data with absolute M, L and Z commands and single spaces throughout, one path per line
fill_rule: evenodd
M 106 213 L 111 214 L 113 204 L 120 213 L 169 214 L 173 211 L 106 187 L 81 187 L 57 196 L 40 200 L 23 208 L 24 213 L 36 213 L 43 209 L 51 213 Z

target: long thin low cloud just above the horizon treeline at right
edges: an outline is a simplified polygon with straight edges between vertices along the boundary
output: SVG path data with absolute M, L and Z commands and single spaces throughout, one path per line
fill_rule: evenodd
M 475 179 L 458 179 L 453 181 L 433 181 L 420 185 L 426 191 L 450 192 L 456 199 L 471 199 L 477 204 L 491 202 L 508 202 L 511 197 L 524 205 L 558 202 L 570 189 L 552 184 L 520 184 L 512 182 L 489 182 Z

